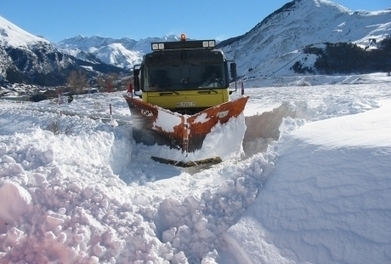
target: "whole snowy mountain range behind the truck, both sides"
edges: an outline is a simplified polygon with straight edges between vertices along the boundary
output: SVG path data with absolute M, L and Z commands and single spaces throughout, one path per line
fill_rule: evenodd
M 351 11 L 327 0 L 294 0 L 218 46 L 237 62 L 248 86 L 259 85 L 259 79 L 270 85 L 298 74 L 390 72 L 390 35 L 391 10 Z M 0 82 L 58 85 L 75 69 L 89 76 L 127 72 L 152 41 L 177 38 L 79 35 L 49 43 L 0 18 Z

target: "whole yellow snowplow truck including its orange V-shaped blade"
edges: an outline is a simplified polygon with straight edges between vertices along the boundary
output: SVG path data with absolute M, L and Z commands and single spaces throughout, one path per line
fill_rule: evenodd
M 133 138 L 189 152 L 217 124 L 239 116 L 248 97 L 230 100 L 237 89 L 234 61 L 215 40 L 153 42 L 152 52 L 133 67 L 134 90 L 124 95 L 132 115 Z M 234 86 L 230 89 L 230 83 Z

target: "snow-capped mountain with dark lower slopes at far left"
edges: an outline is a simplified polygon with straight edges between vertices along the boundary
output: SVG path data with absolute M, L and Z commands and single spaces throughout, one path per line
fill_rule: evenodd
M 88 77 L 97 73 L 120 73 L 123 69 L 84 54 L 77 59 L 65 54 L 48 40 L 0 17 L 0 83 L 30 83 L 43 86 L 63 85 L 71 71 Z

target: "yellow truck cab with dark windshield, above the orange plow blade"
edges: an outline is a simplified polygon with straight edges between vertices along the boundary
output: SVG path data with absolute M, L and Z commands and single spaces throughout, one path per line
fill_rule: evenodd
M 142 101 L 182 114 L 194 114 L 229 101 L 236 64 L 215 40 L 153 42 L 152 52 L 133 68 L 135 94 Z

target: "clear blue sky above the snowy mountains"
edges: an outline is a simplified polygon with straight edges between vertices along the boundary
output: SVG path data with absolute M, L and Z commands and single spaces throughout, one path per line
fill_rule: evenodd
M 0 16 L 58 42 L 76 35 L 139 40 L 181 33 L 224 40 L 251 30 L 287 0 L 0 0 Z M 336 0 L 350 10 L 391 8 L 390 0 Z

